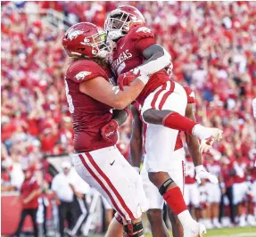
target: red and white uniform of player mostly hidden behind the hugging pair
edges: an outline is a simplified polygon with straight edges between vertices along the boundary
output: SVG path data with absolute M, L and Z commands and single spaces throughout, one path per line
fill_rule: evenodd
M 192 90 L 185 86 L 186 88 L 186 93 L 187 93 L 187 102 L 188 103 L 194 103 L 194 97 L 190 96 L 192 93 Z M 135 103 L 137 110 L 139 110 L 139 104 L 136 102 Z M 139 110 L 140 111 L 140 110 Z M 140 116 L 141 117 L 141 116 Z M 142 119 L 142 118 L 141 118 Z M 144 125 L 144 132 L 147 129 L 148 125 L 143 123 Z M 148 139 L 148 138 L 146 138 Z M 144 143 L 146 141 L 144 140 Z M 145 154 L 145 162 L 146 159 L 148 159 L 148 153 Z M 178 185 L 180 188 L 181 192 L 186 195 L 186 188 L 184 187 L 185 183 L 185 150 L 183 148 L 183 142 L 181 139 L 181 134 L 180 132 L 178 133 L 178 138 L 175 144 L 175 151 L 168 155 L 169 159 L 169 168 L 168 168 L 168 173 L 169 176 L 174 180 L 174 182 Z M 194 168 L 194 164 L 193 164 Z M 157 187 L 149 180 L 148 178 L 148 172 L 145 168 L 145 165 L 143 166 L 141 170 L 141 176 L 143 179 L 143 187 L 145 190 L 145 195 L 149 201 L 149 208 L 162 208 L 164 200 L 159 193 L 159 190 Z M 197 193 L 198 194 L 198 193 Z M 199 196 L 198 196 L 198 201 L 199 201 Z M 199 204 L 199 203 L 198 203 Z

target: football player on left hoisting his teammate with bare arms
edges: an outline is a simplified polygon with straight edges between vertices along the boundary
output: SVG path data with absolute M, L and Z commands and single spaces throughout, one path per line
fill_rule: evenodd
M 139 175 L 120 151 L 117 128 L 128 114 L 124 109 L 145 87 L 147 76 L 128 72 L 133 83 L 124 91 L 114 86 L 106 56 L 106 34 L 94 24 L 81 22 L 67 30 L 62 45 L 70 56 L 65 88 L 73 119 L 72 162 L 78 175 L 108 200 L 124 223 L 125 236 L 144 236 L 141 222 L 147 201 Z M 111 112 L 112 110 L 112 112 Z

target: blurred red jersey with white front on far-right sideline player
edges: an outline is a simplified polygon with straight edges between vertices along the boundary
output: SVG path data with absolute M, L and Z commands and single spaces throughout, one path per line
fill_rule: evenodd
M 240 184 L 246 181 L 247 168 L 250 166 L 249 160 L 246 158 L 235 159 L 234 168 L 235 168 L 235 184 Z

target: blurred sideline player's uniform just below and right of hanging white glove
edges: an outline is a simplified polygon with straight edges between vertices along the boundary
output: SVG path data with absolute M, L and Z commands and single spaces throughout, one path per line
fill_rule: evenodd
M 206 161 L 204 167 L 211 173 L 211 175 L 219 177 L 221 170 L 221 162 L 219 160 Z M 219 184 L 212 184 L 209 180 L 205 184 L 208 192 L 209 203 L 219 203 L 221 198 L 221 191 Z

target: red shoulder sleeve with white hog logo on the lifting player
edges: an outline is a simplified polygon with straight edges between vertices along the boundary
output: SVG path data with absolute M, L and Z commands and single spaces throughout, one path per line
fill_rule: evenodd
M 95 61 L 76 61 L 75 63 L 68 71 L 67 78 L 76 83 L 97 77 L 105 77 L 103 69 Z

